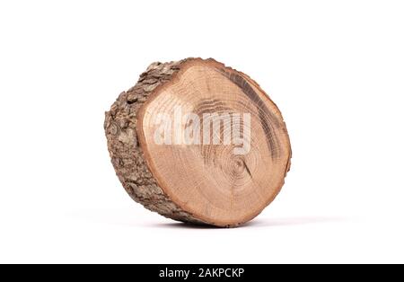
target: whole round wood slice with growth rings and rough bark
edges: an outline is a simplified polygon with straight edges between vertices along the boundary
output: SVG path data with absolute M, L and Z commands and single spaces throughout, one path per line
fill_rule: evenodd
M 275 103 L 248 75 L 213 59 L 152 64 L 106 112 L 104 128 L 127 193 L 183 222 L 249 221 L 290 167 Z

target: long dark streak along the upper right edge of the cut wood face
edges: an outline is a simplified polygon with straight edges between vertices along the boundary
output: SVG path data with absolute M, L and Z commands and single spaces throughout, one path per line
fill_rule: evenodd
M 227 77 L 233 84 L 236 84 L 242 89 L 247 97 L 255 103 L 257 110 L 259 111 L 259 121 L 261 127 L 265 132 L 267 137 L 268 150 L 271 152 L 272 159 L 277 159 L 280 157 L 280 145 L 276 134 L 274 133 L 273 125 L 275 124 L 277 128 L 279 127 L 279 122 L 277 118 L 268 110 L 265 103 L 259 98 L 259 95 L 252 89 L 250 84 L 242 77 L 242 75 L 235 74 L 233 72 L 227 72 L 223 68 L 216 68 L 216 70 Z

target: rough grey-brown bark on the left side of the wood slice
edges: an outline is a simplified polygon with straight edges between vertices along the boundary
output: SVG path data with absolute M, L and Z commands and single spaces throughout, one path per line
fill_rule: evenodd
M 137 113 L 154 89 L 171 80 L 187 61 L 156 62 L 140 75 L 135 86 L 120 93 L 105 112 L 104 129 L 111 163 L 119 181 L 136 202 L 162 216 L 193 224 L 209 224 L 184 211 L 164 193 L 150 172 L 136 135 Z

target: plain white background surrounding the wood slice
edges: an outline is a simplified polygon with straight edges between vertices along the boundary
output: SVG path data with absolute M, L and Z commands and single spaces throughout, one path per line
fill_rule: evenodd
M 282 110 L 284 189 L 236 229 L 133 202 L 104 111 L 214 57 Z M 1 1 L 0 262 L 404 262 L 402 1 Z

